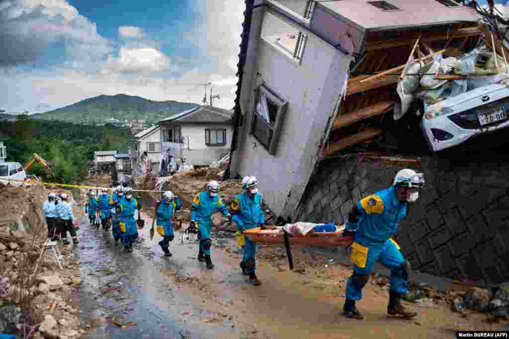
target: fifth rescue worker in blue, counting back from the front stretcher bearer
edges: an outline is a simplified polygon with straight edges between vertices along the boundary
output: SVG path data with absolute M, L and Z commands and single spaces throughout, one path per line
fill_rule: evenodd
M 138 238 L 138 225 L 134 219 L 136 209 L 142 205 L 133 197 L 133 190 L 128 187 L 125 190 L 125 198 L 119 201 L 120 205 L 120 231 L 124 237 L 124 250 L 131 253 L 134 241 Z

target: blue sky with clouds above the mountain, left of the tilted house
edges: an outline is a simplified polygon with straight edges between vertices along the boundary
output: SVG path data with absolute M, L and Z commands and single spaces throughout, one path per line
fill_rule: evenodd
M 0 0 L 0 109 L 45 111 L 101 94 L 232 108 L 240 0 Z M 4 49 L 6 50 L 6 49 Z M 209 90 L 208 90 L 209 91 Z

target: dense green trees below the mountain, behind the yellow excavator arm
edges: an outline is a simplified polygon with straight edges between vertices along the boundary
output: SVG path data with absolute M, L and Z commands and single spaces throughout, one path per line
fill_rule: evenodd
M 94 159 L 94 151 L 131 146 L 131 136 L 124 129 L 61 121 L 0 120 L 0 134 L 7 137 L 7 161 L 24 165 L 33 153 L 38 153 L 50 164 L 51 179 L 63 183 L 78 182 L 87 176 L 87 163 Z M 46 178 L 45 169 L 38 163 L 27 172 Z

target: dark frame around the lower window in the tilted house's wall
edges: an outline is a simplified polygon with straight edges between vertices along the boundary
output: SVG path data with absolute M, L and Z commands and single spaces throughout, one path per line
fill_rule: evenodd
M 279 136 L 281 134 L 281 129 L 288 109 L 288 101 L 282 99 L 265 85 L 260 85 L 256 92 L 256 100 L 254 101 L 254 107 L 252 109 L 251 128 L 249 133 L 262 144 L 271 156 L 274 156 L 276 154 Z M 257 111 L 258 105 L 261 105 L 260 101 L 262 98 L 269 100 L 273 105 L 277 106 L 277 112 L 273 124 L 270 122 L 270 117 L 269 121 L 267 121 L 267 117 L 264 117 L 264 113 L 262 112 L 262 114 L 260 114 Z M 265 113 L 268 115 L 268 112 Z M 257 135 L 257 123 L 262 125 L 262 128 L 269 130 L 269 140 L 261 140 L 261 136 Z M 259 125 L 258 127 L 260 128 Z

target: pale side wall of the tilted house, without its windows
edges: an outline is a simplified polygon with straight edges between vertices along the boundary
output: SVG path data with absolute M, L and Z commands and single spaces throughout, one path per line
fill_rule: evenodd
M 243 81 L 241 105 L 245 116 L 240 145 L 238 151 L 234 152 L 232 174 L 257 176 L 267 205 L 276 214 L 282 214 L 289 195 L 292 200 L 298 200 L 310 177 L 324 133 L 332 124 L 345 85 L 350 57 L 287 21 L 286 25 L 293 26 L 296 32 L 301 31 L 308 37 L 302 61 L 298 65 L 285 52 L 263 39 L 272 35 L 272 27 L 282 26 L 278 21 L 285 20 L 272 10 L 263 11 L 264 27 L 261 30 L 257 27 L 260 13 L 255 11 L 253 17 L 252 28 L 255 29 L 254 32 L 251 30 L 249 45 L 254 41 L 256 47 L 250 49 L 247 56 L 245 72 L 246 75 L 247 72 L 252 74 Z M 269 155 L 250 134 L 256 100 L 254 89 L 262 82 L 288 101 L 275 156 Z

